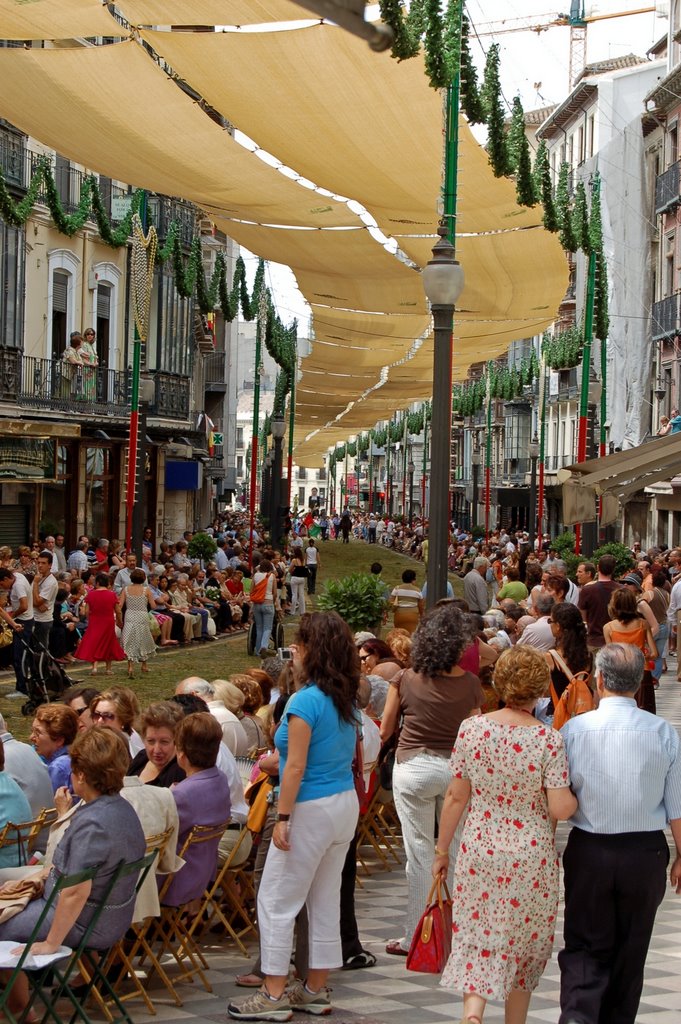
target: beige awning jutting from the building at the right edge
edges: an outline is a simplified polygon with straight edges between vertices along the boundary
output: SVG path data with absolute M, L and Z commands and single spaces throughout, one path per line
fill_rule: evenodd
M 599 497 L 603 499 L 602 521 L 615 522 L 621 505 L 632 495 L 679 473 L 681 433 L 655 437 L 638 447 L 560 469 L 557 475 L 562 483 L 563 522 L 595 519 Z

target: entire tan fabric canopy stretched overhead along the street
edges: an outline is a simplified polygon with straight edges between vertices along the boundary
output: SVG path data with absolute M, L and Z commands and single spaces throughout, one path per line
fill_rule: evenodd
M 372 53 L 290 0 L 120 0 L 117 8 L 132 37 L 83 46 L 68 40 L 126 33 L 99 0 L 0 0 L 0 37 L 59 42 L 0 50 L 0 117 L 87 169 L 195 202 L 251 252 L 292 268 L 314 335 L 297 389 L 299 462 L 428 397 L 432 336 L 418 271 L 436 238 L 443 113 L 423 59 Z M 282 20 L 307 24 L 266 27 Z M 265 28 L 196 31 L 206 25 Z M 159 31 L 171 26 L 182 31 Z M 285 166 L 240 145 L 176 79 Z M 494 177 L 463 117 L 457 196 L 462 379 L 471 362 L 550 326 L 567 265 L 541 208 L 517 205 L 514 182 Z

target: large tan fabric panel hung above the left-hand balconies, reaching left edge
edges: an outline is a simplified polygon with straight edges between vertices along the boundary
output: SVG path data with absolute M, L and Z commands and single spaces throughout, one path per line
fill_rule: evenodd
M 91 170 L 224 216 L 356 224 L 344 204 L 321 202 L 235 142 L 132 40 L 0 49 L 0 81 L 1 117 Z

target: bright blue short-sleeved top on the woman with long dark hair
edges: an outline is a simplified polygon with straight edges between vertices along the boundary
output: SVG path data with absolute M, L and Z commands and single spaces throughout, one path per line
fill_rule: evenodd
M 357 727 L 345 722 L 338 714 L 330 696 L 314 683 L 308 683 L 289 700 L 276 730 L 274 742 L 280 753 L 280 777 L 284 777 L 289 754 L 289 719 L 296 716 L 311 729 L 307 763 L 298 803 L 320 800 L 345 793 L 354 787 L 352 758 L 357 738 Z

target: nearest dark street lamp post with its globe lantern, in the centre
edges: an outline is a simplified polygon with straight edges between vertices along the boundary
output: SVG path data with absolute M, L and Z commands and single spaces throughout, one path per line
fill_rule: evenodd
M 464 287 L 446 224 L 440 222 L 433 258 L 422 270 L 423 287 L 433 314 L 433 404 L 430 425 L 430 506 L 428 515 L 427 604 L 446 595 L 450 542 L 450 443 L 452 437 L 452 330 L 454 308 Z

